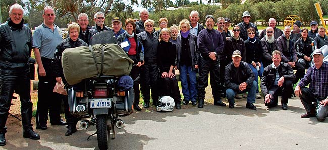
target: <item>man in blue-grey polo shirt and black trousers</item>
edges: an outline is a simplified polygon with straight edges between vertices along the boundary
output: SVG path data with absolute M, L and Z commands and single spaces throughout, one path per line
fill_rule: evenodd
M 47 129 L 48 112 L 52 125 L 65 125 L 61 119 L 61 99 L 53 92 L 56 79 L 51 68 L 56 46 L 62 41 L 62 32 L 53 24 L 56 15 L 54 9 L 46 6 L 43 10 L 44 22 L 33 34 L 33 50 L 38 64 L 38 102 L 36 112 L 36 129 Z

